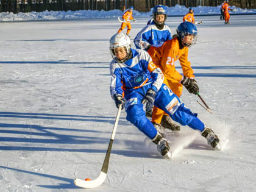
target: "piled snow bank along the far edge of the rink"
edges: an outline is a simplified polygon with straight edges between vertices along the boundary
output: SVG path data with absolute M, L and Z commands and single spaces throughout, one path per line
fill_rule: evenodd
M 232 7 L 235 9 L 232 13 L 256 13 L 256 9 L 241 9 L 239 7 Z M 212 15 L 219 14 L 220 6 L 217 7 L 202 7 L 194 8 L 195 15 Z M 187 7 L 183 5 L 176 5 L 175 7 L 168 7 L 168 15 L 185 15 L 188 12 Z M 30 13 L 0 13 L 0 21 L 34 21 L 34 20 L 79 20 L 88 18 L 116 18 L 122 15 L 121 10 L 98 11 L 98 10 L 77 10 L 77 11 L 44 11 L 44 12 L 30 12 Z M 134 10 L 133 16 L 150 16 L 152 10 L 147 13 L 138 12 Z

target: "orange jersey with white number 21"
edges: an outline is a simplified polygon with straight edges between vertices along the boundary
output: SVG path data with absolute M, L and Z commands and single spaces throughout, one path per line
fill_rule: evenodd
M 188 48 L 180 49 L 179 40 L 173 38 L 172 40 L 165 41 L 162 46 L 151 46 L 148 50 L 153 62 L 157 65 L 165 75 L 167 80 L 179 82 L 182 75 L 176 71 L 174 62 L 179 59 L 182 66 L 183 75 L 188 78 L 194 78 L 194 71 L 191 68 L 191 63 L 188 60 Z

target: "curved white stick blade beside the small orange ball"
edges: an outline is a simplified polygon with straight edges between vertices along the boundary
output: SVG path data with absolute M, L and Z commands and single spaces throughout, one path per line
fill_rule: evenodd
M 94 180 L 82 180 L 82 179 L 78 179 L 76 178 L 74 180 L 74 184 L 77 187 L 82 187 L 82 188 L 94 188 L 94 187 L 98 187 L 99 185 L 101 185 L 104 180 L 106 179 L 107 174 L 105 174 L 105 172 L 101 171 L 101 174 L 99 174 L 99 177 L 97 179 Z

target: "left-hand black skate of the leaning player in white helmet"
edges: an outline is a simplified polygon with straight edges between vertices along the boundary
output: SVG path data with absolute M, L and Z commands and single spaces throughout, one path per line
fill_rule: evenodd
M 153 142 L 157 144 L 157 151 L 159 151 L 163 157 L 171 158 L 168 141 L 163 138 L 160 133 L 157 132 L 157 135 L 155 135 L 155 137 L 153 138 Z

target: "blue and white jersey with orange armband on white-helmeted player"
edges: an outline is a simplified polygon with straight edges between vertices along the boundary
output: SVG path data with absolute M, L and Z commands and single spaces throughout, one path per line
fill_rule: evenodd
M 132 59 L 124 63 L 112 60 L 110 63 L 110 94 L 123 94 L 151 84 L 158 91 L 163 84 L 163 73 L 152 62 L 148 52 L 141 49 L 130 49 Z

